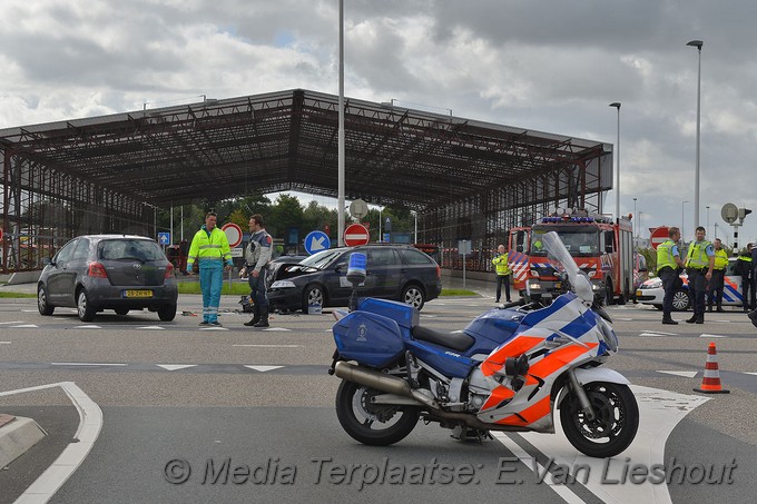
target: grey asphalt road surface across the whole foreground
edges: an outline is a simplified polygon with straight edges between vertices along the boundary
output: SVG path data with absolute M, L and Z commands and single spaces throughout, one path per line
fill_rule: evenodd
M 493 306 L 485 294 L 433 300 L 422 324 L 462 328 Z M 338 379 L 326 374 L 332 316 L 275 315 L 269 329 L 250 329 L 233 312 L 237 299 L 222 303 L 223 329 L 198 327 L 197 296 L 181 296 L 188 314 L 171 323 L 105 313 L 82 324 L 68 309 L 40 316 L 33 299 L 0 303 L 0 412 L 49 433 L 0 471 L 0 502 L 22 495 L 65 449 L 83 456 L 51 502 L 754 500 L 757 329 L 743 313 L 662 326 L 653 308 L 610 308 L 621 352 L 609 366 L 633 384 L 642 423 L 608 463 L 577 457 L 560 434 L 461 443 L 421 424 L 389 448 L 356 444 L 336 421 Z M 710 342 L 730 394 L 692 392 Z M 9 394 L 30 387 L 41 388 Z M 96 434 L 87 424 L 89 445 L 68 444 L 79 411 L 101 416 Z M 655 457 L 680 481 L 632 476 Z

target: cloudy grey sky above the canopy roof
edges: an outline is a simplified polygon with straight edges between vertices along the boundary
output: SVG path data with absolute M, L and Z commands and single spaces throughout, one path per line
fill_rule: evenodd
M 304 88 L 338 92 L 338 0 L 2 0 L 0 128 Z M 621 213 L 733 241 L 755 210 L 754 0 L 344 0 L 345 95 L 616 144 Z M 615 192 L 604 211 L 615 213 Z M 689 202 L 684 202 L 689 201 Z M 710 209 L 707 211 L 706 207 Z

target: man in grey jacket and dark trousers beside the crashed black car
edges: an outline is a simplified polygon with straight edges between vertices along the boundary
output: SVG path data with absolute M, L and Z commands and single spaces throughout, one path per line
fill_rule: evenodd
M 268 264 L 273 253 L 274 239 L 263 225 L 263 216 L 255 214 L 249 218 L 249 243 L 245 249 L 245 267 L 239 278 L 247 277 L 249 295 L 255 299 L 253 319 L 246 326 L 268 327 Z

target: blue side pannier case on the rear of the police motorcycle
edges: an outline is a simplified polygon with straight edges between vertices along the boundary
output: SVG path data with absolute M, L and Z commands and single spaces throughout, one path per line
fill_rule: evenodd
M 404 352 L 400 326 L 382 315 L 353 312 L 332 330 L 343 358 L 370 367 L 387 366 Z

